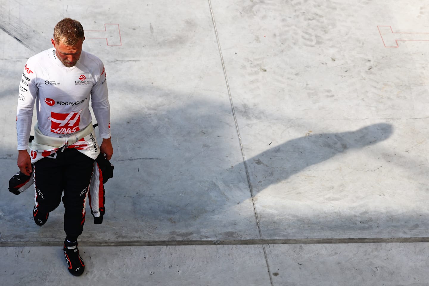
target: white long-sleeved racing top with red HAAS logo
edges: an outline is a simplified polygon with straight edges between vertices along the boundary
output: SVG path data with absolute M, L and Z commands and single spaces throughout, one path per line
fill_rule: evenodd
M 27 150 L 34 102 L 43 135 L 67 137 L 97 119 L 100 137 L 110 138 L 110 105 L 102 61 L 85 51 L 66 67 L 51 48 L 27 60 L 19 85 L 16 129 L 18 150 Z

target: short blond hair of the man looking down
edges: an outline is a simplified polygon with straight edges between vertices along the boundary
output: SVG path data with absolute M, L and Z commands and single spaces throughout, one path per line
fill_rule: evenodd
M 54 40 L 57 44 L 62 43 L 66 46 L 73 46 L 84 38 L 83 27 L 79 21 L 64 18 L 55 25 Z

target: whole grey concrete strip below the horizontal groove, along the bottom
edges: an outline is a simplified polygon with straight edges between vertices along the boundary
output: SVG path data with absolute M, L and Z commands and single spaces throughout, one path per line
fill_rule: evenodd
M 427 285 L 428 244 L 79 247 L 72 277 L 52 247 L 4 247 L 2 285 Z M 34 263 L 37 255 L 43 263 Z M 19 265 L 12 268 L 10 265 Z

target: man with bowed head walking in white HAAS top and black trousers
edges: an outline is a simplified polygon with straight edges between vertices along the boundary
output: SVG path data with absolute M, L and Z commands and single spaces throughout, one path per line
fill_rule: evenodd
M 113 154 L 106 71 L 98 57 L 82 51 L 84 40 L 78 21 L 65 18 L 57 23 L 51 39 L 54 48 L 27 60 L 16 119 L 18 167 L 25 175 L 33 173 L 35 182 L 34 222 L 45 224 L 62 200 L 63 251 L 70 273 L 76 276 L 85 269 L 77 239 L 85 223 L 94 160 L 100 152 L 107 160 Z M 90 99 L 101 145 L 93 134 Z M 34 140 L 28 143 L 34 103 L 37 123 Z

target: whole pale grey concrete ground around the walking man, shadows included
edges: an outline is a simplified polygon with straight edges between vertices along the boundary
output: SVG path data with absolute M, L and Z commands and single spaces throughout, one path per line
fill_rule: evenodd
M 87 212 L 7 190 L 28 57 L 62 18 L 106 66 L 115 177 Z M 1 285 L 427 285 L 423 0 L 0 0 Z

